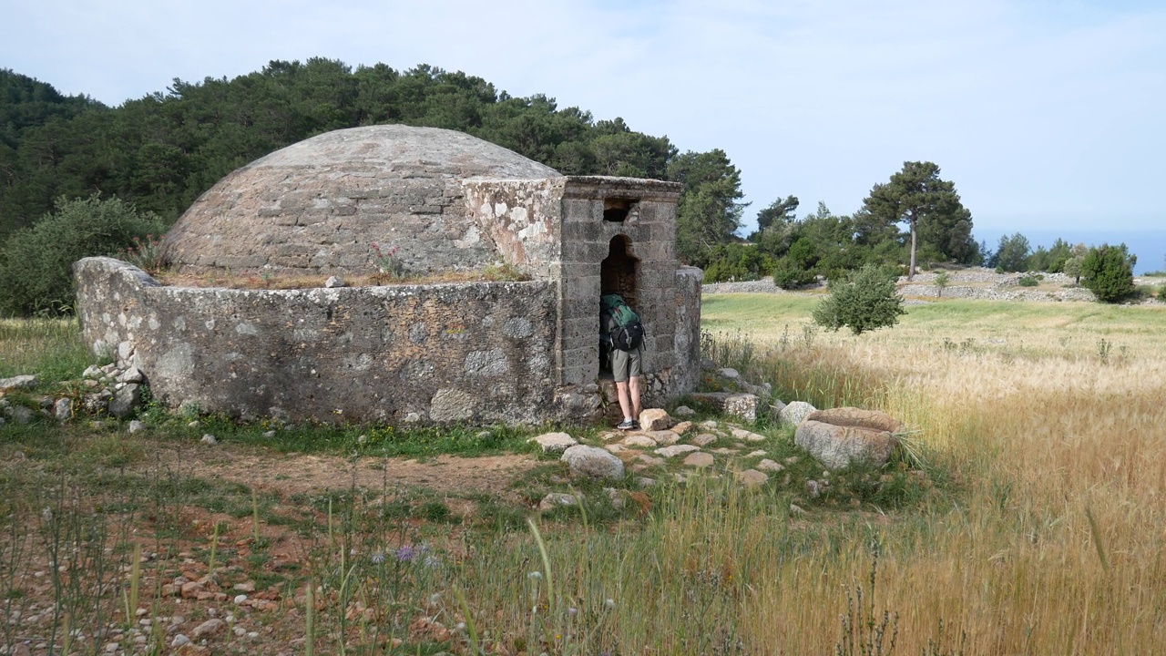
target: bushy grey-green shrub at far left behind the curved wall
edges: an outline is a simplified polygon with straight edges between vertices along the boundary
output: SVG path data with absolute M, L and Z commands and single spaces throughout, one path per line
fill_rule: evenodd
M 120 198 L 58 198 L 56 210 L 19 230 L 0 251 L 0 312 L 68 314 L 73 305 L 72 264 L 90 256 L 135 249 L 162 231 L 153 212 Z

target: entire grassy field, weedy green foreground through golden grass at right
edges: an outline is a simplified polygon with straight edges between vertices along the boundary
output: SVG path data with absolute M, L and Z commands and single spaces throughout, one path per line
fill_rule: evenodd
M 49 613 L 29 591 L 55 599 L 62 610 L 38 624 L 55 654 L 68 650 L 69 621 L 89 636 L 73 652 L 108 641 L 135 649 L 134 608 L 147 617 L 182 609 L 159 601 L 162 570 L 215 574 L 227 589 L 244 577 L 285 586 L 274 609 L 254 615 L 259 642 L 227 633 L 210 647 L 222 654 L 257 644 L 273 654 L 890 654 L 893 640 L 895 654 L 1132 655 L 1166 644 L 1166 308 L 951 300 L 855 337 L 810 326 L 814 302 L 707 295 L 707 349 L 786 402 L 902 419 L 927 477 L 894 503 L 855 495 L 793 514 L 805 490 L 744 491 L 722 476 L 658 487 L 623 512 L 589 502 L 527 525 L 521 507 L 478 500 L 484 521 L 458 522 L 442 510 L 448 497 L 423 490 L 278 497 L 209 472 L 150 467 L 159 444 L 197 441 L 201 431 L 184 424 L 148 440 L 8 425 L 0 605 L 9 616 Z M 84 367 L 70 328 L 37 326 L 40 339 L 6 326 L 0 376 Z M 26 360 L 9 364 L 17 354 Z M 789 431 L 756 428 L 766 448 L 795 449 Z M 319 458 L 351 456 L 357 432 L 330 438 Z M 253 433 L 248 448 L 259 451 L 248 453 L 279 467 Z M 295 448 L 309 438 L 296 433 Z M 555 479 L 557 467 L 532 475 Z M 877 472 L 859 474 L 845 484 L 881 484 Z M 298 536 L 302 557 L 276 546 L 281 529 Z M 220 530 L 255 535 L 219 543 Z M 182 551 L 189 563 L 136 570 L 134 545 Z M 75 574 L 54 574 L 42 552 Z M 90 580 L 103 577 L 105 588 Z M 91 607 L 107 610 L 93 619 Z M 185 613 L 208 617 L 198 606 Z M 126 630 L 94 641 L 96 626 Z M 14 644 L 14 627 L 0 643 Z

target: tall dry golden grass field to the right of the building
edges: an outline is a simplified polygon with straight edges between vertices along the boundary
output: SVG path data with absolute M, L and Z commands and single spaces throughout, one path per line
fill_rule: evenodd
M 871 404 L 918 428 L 964 482 L 954 508 L 878 531 L 878 603 L 902 613 L 902 652 L 926 649 L 940 620 L 967 633 L 967 654 L 1160 651 L 1166 308 L 944 301 L 890 330 L 807 341 L 812 305 L 705 296 L 704 316 L 768 344 L 794 377 L 877 382 Z M 829 651 L 840 586 L 869 566 L 862 542 L 758 582 L 751 626 L 766 652 Z M 792 620 L 796 648 L 781 628 Z

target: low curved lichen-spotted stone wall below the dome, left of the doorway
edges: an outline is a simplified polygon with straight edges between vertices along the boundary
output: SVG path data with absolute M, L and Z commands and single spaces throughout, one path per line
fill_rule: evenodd
M 554 383 L 552 281 L 183 288 L 111 258 L 83 259 L 75 274 L 85 340 L 141 369 L 171 406 L 389 424 L 593 410 Z

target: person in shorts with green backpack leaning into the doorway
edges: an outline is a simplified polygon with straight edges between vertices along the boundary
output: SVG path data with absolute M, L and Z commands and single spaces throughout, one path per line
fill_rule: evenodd
M 644 379 L 644 324 L 639 315 L 619 294 L 599 299 L 600 341 L 611 357 L 611 375 L 616 381 L 619 410 L 624 420 L 616 427 L 634 431 L 640 427 L 640 383 Z

